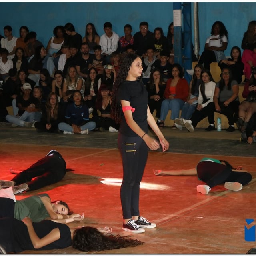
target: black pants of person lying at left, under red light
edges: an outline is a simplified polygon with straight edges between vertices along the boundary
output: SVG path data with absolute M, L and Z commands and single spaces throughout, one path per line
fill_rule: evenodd
M 65 174 L 66 162 L 58 153 L 38 160 L 28 169 L 17 174 L 12 180 L 16 185 L 27 183 L 29 190 L 32 191 L 62 180 Z M 32 178 L 35 179 L 32 180 Z

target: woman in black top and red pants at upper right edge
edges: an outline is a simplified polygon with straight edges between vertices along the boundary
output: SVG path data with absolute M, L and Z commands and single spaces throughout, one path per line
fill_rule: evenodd
M 250 79 L 252 69 L 256 66 L 256 20 L 252 20 L 248 24 L 247 31 L 244 33 L 242 40 L 242 62 L 244 63 L 244 75 L 246 79 Z

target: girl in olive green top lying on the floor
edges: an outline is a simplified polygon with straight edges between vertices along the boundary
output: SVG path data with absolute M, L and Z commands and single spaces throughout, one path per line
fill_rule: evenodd
M 2 180 L 0 183 L 5 184 Z M 84 218 L 84 214 L 72 214 L 68 205 L 63 201 L 51 202 L 48 194 L 38 194 L 16 200 L 11 187 L 0 190 L 0 205 L 0 218 L 14 217 L 22 220 L 29 217 L 32 222 L 48 219 L 64 224 Z

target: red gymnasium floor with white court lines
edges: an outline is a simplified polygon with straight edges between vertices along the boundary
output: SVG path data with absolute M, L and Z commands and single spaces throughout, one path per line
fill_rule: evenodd
M 22 130 L 23 131 L 23 130 Z M 64 141 L 66 138 L 60 135 Z M 90 135 L 89 135 L 90 136 Z M 97 135 L 98 136 L 98 135 Z M 105 134 L 105 136 L 115 136 Z M 171 137 L 171 136 L 170 136 Z M 71 138 L 71 137 L 69 137 Z M 88 140 L 79 138 L 79 140 Z M 38 193 L 48 193 L 52 200 L 66 201 L 75 213 L 84 213 L 85 218 L 72 226 L 88 225 L 112 227 L 113 234 L 122 231 L 120 184 L 122 163 L 117 148 L 79 148 L 72 146 L 38 146 L 14 144 L 2 138 L 1 179 L 13 177 L 10 169 L 22 170 L 44 156 L 50 149 L 58 150 L 67 162 L 68 172 L 57 184 L 35 192 L 17 195 L 18 200 Z M 78 137 L 72 137 L 78 140 Z M 79 140 L 76 143 L 79 143 Z M 171 139 L 169 139 L 171 143 Z M 23 143 L 28 143 L 28 139 Z M 43 142 L 38 142 L 42 144 Z M 55 145 L 60 143 L 55 142 Z M 63 144 L 63 143 L 62 143 Z M 255 148 L 251 145 L 251 150 Z M 184 152 L 186 149 L 184 149 Z M 155 176 L 153 169 L 181 170 L 192 168 L 204 154 L 150 152 L 140 190 L 140 213 L 156 228 L 134 234 L 143 245 L 97 252 L 100 254 L 244 254 L 255 242 L 244 239 L 245 219 L 256 218 L 255 210 L 255 161 L 251 157 L 214 156 L 225 159 L 233 166 L 242 165 L 252 173 L 253 180 L 240 192 L 214 187 L 205 196 L 196 192 L 196 185 L 203 184 L 196 176 Z M 250 224 L 253 226 L 254 224 Z M 77 254 L 84 253 L 69 247 L 63 250 L 25 251 L 26 254 Z M 90 252 L 96 253 L 96 252 Z

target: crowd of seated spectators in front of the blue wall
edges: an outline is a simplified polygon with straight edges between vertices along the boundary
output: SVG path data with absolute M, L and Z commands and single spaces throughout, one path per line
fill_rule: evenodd
M 251 106 L 254 105 L 247 104 L 247 106 L 243 103 L 239 106 L 242 99 L 238 98 L 238 84 L 242 82 L 242 75 L 245 74 L 246 82 L 248 81 L 246 86 L 250 88 L 249 91 L 254 91 L 252 83 L 255 79 L 252 70 L 256 66 L 255 28 L 256 21 L 251 21 L 242 41 L 243 54 L 238 46 L 234 46 L 230 58 L 227 59 L 224 51 L 228 45 L 228 31 L 221 21 L 214 22 L 211 36 L 206 40 L 198 65 L 192 71 L 187 70 L 192 75 L 192 81 L 188 84 L 184 79 L 184 69 L 180 64 L 174 63 L 173 22 L 168 26 L 167 36 L 164 36 L 161 27 L 156 27 L 150 32 L 147 22 L 140 23 L 139 31 L 134 36 L 130 24 L 124 25 L 124 36 L 119 36 L 112 30 L 112 24 L 105 22 L 104 34 L 100 36 L 94 24 L 88 23 L 84 37 L 76 32 L 72 23 L 68 22 L 64 26 L 58 25 L 54 28 L 53 36 L 47 39 L 46 47 L 36 39 L 36 32 L 30 32 L 27 26 L 20 27 L 20 36 L 16 38 L 12 35 L 11 26 L 7 25 L 4 27 L 5 38 L 1 36 L 0 81 L 2 81 L 1 99 L 3 99 L 1 104 L 6 107 L 12 106 L 14 117 L 20 119 L 21 106 L 18 105 L 17 99 L 24 97 L 24 88 L 29 84 L 31 95 L 34 88 L 39 87 L 42 97 L 48 99 L 48 105 L 36 108 L 40 114 L 44 113 L 42 122 L 45 124 L 46 119 L 54 122 L 63 121 L 67 118 L 66 111 L 70 108 L 70 104 L 74 105 L 74 91 L 79 90 L 82 94 L 80 104 L 86 106 L 88 114 L 92 113 L 98 129 L 100 128 L 98 120 L 102 119 L 99 115 L 101 110 L 104 113 L 104 107 L 100 108 L 97 101 L 108 100 L 108 94 L 111 96 L 123 54 L 136 53 L 142 58 L 141 81 L 148 90 L 150 111 L 156 110 L 157 124 L 160 128 L 164 127 L 167 113 L 171 110 L 173 129 L 182 130 L 186 127 L 188 131 L 194 131 L 197 122 L 208 116 L 209 127 L 206 130 L 215 130 L 214 112 L 219 112 L 228 118 L 227 131 L 234 131 L 234 123 L 237 123 L 242 136 L 245 136 L 246 126 L 254 114 L 254 107 Z M 220 81 L 212 79 L 210 73 L 212 62 L 218 63 L 222 70 Z M 211 86 L 214 83 L 214 91 L 208 91 L 209 83 Z M 105 86 L 102 88 L 105 89 L 100 90 L 102 84 Z M 247 96 L 246 102 L 248 102 Z M 58 100 L 57 105 L 54 98 Z M 250 96 L 250 100 L 252 98 Z M 111 101 L 109 103 L 111 104 Z M 53 108 L 58 108 L 58 111 L 52 112 L 50 117 L 46 105 L 50 108 L 51 104 Z M 181 116 L 180 110 L 182 110 Z M 41 122 L 35 119 L 32 121 L 32 126 L 36 121 Z M 31 126 L 25 125 L 24 122 L 19 124 Z M 39 127 L 39 124 L 36 127 Z M 107 126 L 104 127 L 103 130 L 107 130 Z M 111 127 L 117 130 L 118 124 L 112 124 Z M 54 128 L 49 128 L 47 124 L 47 128 L 42 129 L 42 123 L 38 130 L 58 131 L 56 125 Z M 77 127 L 75 130 L 75 133 L 79 133 Z

